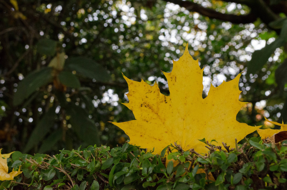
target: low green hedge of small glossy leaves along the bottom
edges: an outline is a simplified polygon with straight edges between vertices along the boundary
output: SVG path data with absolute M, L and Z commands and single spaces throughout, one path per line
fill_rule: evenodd
M 280 149 L 260 137 L 238 144 L 237 150 L 225 144 L 226 150 L 222 150 L 221 146 L 205 143 L 209 148 L 205 155 L 170 145 L 172 153 L 167 159 L 178 160 L 175 167 L 173 161 L 165 164 L 166 158 L 128 143 L 113 149 L 96 145 L 82 150 L 63 149 L 53 157 L 14 152 L 12 159 L 8 158 L 9 169 L 22 165 L 23 173 L 15 181 L 3 181 L 0 189 L 287 188 L 287 141 Z

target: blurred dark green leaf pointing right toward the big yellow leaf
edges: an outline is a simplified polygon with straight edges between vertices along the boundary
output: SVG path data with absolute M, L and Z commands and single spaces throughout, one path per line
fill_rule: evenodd
M 102 65 L 87 57 L 69 57 L 65 66 L 71 71 L 80 73 L 83 77 L 96 79 L 97 81 L 106 82 L 110 78 L 110 75 Z

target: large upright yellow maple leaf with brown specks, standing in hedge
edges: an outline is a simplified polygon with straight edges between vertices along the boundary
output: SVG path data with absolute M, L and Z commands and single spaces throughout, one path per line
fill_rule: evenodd
M 215 139 L 218 145 L 234 145 L 234 139 L 243 139 L 259 127 L 236 121 L 236 115 L 246 102 L 238 100 L 239 74 L 234 80 L 220 86 L 211 85 L 202 98 L 203 69 L 198 60 L 189 55 L 186 46 L 179 61 L 173 62 L 170 73 L 163 72 L 168 81 L 169 96 L 160 93 L 157 83 L 136 82 L 124 76 L 129 86 L 129 103 L 135 120 L 115 123 L 130 137 L 130 143 L 159 154 L 170 143 L 177 142 L 183 150 L 207 152 L 198 139 Z M 216 144 L 216 143 L 215 143 Z

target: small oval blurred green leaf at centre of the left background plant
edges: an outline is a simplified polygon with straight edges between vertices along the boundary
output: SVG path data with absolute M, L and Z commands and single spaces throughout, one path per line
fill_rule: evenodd
M 70 71 L 61 71 L 58 75 L 60 82 L 71 88 L 79 88 L 81 86 L 79 79 Z

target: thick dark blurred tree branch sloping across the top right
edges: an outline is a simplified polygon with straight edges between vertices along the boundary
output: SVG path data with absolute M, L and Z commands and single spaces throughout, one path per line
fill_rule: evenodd
M 166 2 L 177 4 L 181 7 L 185 7 L 189 11 L 197 12 L 201 15 L 207 16 L 209 18 L 215 18 L 218 20 L 228 21 L 233 24 L 247 24 L 256 21 L 257 16 L 254 15 L 253 12 L 246 15 L 233 15 L 233 14 L 224 14 L 214 9 L 205 8 L 197 3 L 192 1 L 182 1 L 182 0 L 164 0 Z M 237 0 L 239 1 L 239 0 Z M 243 0 L 241 0 L 243 1 Z

